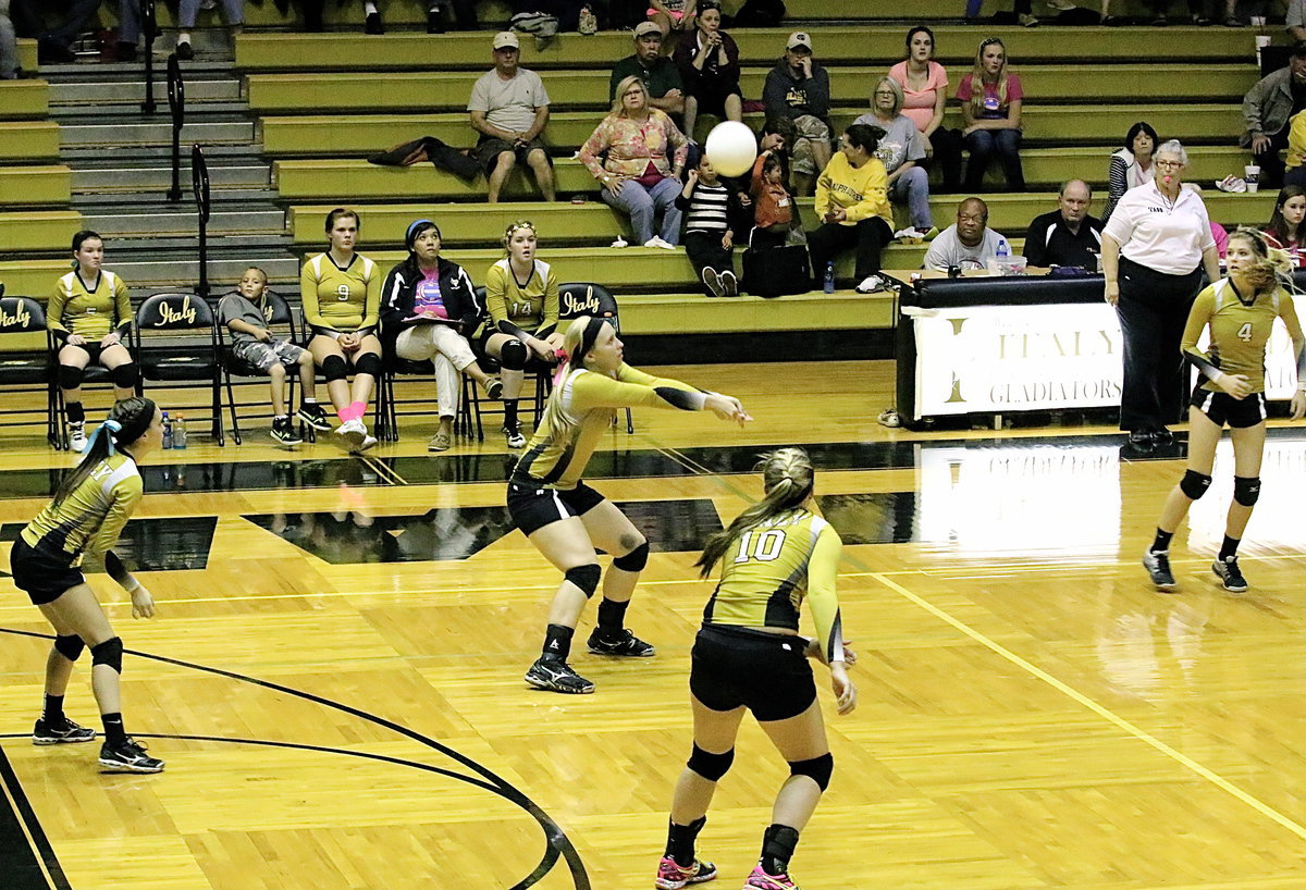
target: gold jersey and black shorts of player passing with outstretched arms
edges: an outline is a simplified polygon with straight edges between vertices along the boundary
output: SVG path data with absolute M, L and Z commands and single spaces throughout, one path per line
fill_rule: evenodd
M 526 445 L 508 483 L 508 513 L 524 535 L 582 515 L 603 496 L 581 482 L 598 440 L 613 425 L 616 408 L 662 407 L 699 411 L 705 395 L 688 384 L 654 377 L 622 364 L 616 378 L 585 369 L 567 375 L 559 385 L 565 415 L 575 422 L 565 438 L 555 440 L 541 424 Z

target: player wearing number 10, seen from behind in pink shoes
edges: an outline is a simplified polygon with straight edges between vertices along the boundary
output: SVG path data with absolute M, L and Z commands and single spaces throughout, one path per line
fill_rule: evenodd
M 835 592 L 842 542 L 815 512 L 811 461 L 801 448 L 781 448 L 759 468 L 765 497 L 709 538 L 697 562 L 703 577 L 720 565 L 721 581 L 693 642 L 693 750 L 675 786 L 654 881 L 661 890 L 716 877 L 712 863 L 695 859 L 693 844 L 717 782 L 734 761 L 747 711 L 789 762 L 790 778 L 776 796 L 760 861 L 744 886 L 797 887 L 789 860 L 835 769 L 807 658 L 829 666 L 840 714 L 857 706 L 845 668 L 853 652 L 844 645 Z M 812 639 L 798 633 L 804 602 L 816 625 Z

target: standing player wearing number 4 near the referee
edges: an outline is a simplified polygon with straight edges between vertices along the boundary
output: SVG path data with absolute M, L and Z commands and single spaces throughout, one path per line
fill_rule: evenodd
M 1260 497 L 1260 458 L 1266 445 L 1266 343 L 1276 318 L 1282 318 L 1297 356 L 1297 389 L 1292 419 L 1306 415 L 1306 339 L 1293 299 L 1280 281 L 1292 279 L 1292 258 L 1269 248 L 1264 235 L 1239 228 L 1229 236 L 1229 275 L 1198 294 L 1183 330 L 1183 358 L 1202 375 L 1188 407 L 1188 467 L 1161 510 L 1156 539 L 1143 565 L 1157 590 L 1174 590 L 1170 539 L 1192 501 L 1211 487 L 1216 445 L 1224 425 L 1233 440 L 1233 504 L 1224 543 L 1212 570 L 1225 590 L 1242 592 L 1247 581 L 1238 568 L 1238 544 Z M 1211 328 L 1209 354 L 1198 348 L 1202 330 Z

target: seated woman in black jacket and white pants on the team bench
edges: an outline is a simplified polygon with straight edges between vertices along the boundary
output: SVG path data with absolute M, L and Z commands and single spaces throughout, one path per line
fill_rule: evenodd
M 500 397 L 503 384 L 481 369 L 468 343 L 466 334 L 481 316 L 477 291 L 462 266 L 440 256 L 440 227 L 418 219 L 404 234 L 404 245 L 407 258 L 390 269 L 381 288 L 381 333 L 393 355 L 435 365 L 440 425 L 426 450 L 447 452 L 453 445 L 461 375 L 475 380 L 492 399 Z

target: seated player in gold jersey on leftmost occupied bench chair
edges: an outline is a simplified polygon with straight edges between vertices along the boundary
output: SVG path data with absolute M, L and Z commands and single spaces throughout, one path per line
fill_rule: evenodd
M 73 235 L 73 270 L 55 282 L 46 307 L 68 414 L 68 446 L 78 454 L 86 448 L 86 410 L 81 402 L 86 365 L 94 361 L 108 371 L 114 398 L 136 394 L 136 363 L 125 342 L 132 330 L 127 282 L 103 264 L 104 241 L 98 234 L 84 230 Z

